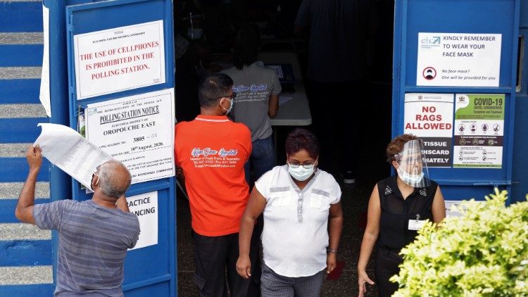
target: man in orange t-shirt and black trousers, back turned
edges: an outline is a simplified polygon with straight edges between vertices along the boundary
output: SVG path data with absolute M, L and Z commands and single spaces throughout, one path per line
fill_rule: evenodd
M 236 94 L 225 74 L 199 84 L 200 115 L 175 127 L 175 160 L 183 170 L 191 206 L 194 282 L 199 296 L 247 296 L 251 279 L 236 270 L 240 219 L 249 199 L 244 164 L 251 155 L 251 133 L 227 118 Z M 258 255 L 256 255 L 258 258 Z

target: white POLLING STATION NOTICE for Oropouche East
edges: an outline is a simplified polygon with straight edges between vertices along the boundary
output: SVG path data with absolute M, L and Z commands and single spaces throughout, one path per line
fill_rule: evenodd
M 173 89 L 89 104 L 86 137 L 125 163 L 132 184 L 172 177 L 174 112 Z

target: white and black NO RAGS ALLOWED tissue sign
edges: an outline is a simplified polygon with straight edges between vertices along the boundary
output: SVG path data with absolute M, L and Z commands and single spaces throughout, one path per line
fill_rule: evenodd
M 407 93 L 403 120 L 404 133 L 423 140 L 429 168 L 451 167 L 453 94 Z

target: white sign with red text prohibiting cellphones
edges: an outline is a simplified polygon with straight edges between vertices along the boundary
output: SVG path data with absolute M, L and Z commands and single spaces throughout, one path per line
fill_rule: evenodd
M 165 82 L 163 20 L 73 39 L 77 100 Z

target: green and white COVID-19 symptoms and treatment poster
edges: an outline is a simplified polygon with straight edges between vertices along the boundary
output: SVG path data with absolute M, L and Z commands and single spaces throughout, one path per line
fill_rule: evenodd
M 502 168 L 504 94 L 455 94 L 455 168 Z

